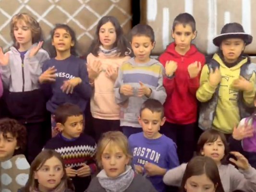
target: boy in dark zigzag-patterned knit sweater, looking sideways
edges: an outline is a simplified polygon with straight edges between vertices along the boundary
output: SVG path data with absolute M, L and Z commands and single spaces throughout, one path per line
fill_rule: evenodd
M 73 104 L 65 103 L 55 111 L 57 128 L 60 130 L 46 144 L 61 154 L 67 175 L 72 178 L 75 192 L 84 192 L 91 181 L 91 174 L 97 169 L 94 155 L 96 143 L 83 133 L 83 112 Z

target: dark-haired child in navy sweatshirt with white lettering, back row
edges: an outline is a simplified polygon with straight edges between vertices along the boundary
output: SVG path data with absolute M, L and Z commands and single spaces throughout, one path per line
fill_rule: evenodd
M 76 38 L 72 28 L 66 24 L 57 24 L 51 32 L 54 52 L 50 60 L 43 65 L 39 77 L 45 93 L 49 98 L 46 108 L 54 114 L 56 108 L 66 102 L 78 105 L 84 112 L 91 96 L 91 86 L 85 63 L 77 58 Z M 52 115 L 52 136 L 58 133 Z

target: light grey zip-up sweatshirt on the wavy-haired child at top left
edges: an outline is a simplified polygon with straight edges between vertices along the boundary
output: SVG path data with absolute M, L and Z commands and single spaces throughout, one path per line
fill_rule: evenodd
M 31 48 L 34 46 L 37 44 Z M 31 48 L 25 53 L 22 65 L 20 52 L 11 47 L 7 52 L 9 53 L 8 65 L 0 66 L 3 85 L 10 92 L 33 91 L 39 88 L 38 77 L 42 73 L 43 62 L 49 60 L 49 54 L 41 48 L 34 57 L 29 58 Z

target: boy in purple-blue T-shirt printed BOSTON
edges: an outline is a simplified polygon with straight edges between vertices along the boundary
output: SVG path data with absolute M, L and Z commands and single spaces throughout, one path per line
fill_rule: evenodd
M 179 165 L 176 144 L 159 133 L 165 122 L 164 108 L 155 99 L 147 99 L 140 108 L 139 123 L 143 132 L 129 137 L 133 165 L 137 173 L 146 174 L 158 192 L 165 192 L 163 175 Z

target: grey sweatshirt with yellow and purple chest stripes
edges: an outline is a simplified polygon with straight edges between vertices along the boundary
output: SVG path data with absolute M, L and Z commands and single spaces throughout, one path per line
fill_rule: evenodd
M 121 126 L 141 127 L 138 122 L 139 111 L 143 102 L 148 98 L 137 96 L 140 88 L 139 82 L 152 90 L 149 98 L 157 99 L 162 104 L 165 102 L 166 92 L 163 87 L 163 73 L 162 64 L 155 59 L 151 59 L 147 63 L 136 63 L 132 58 L 122 64 L 114 85 L 116 103 L 121 105 Z M 134 88 L 134 96 L 124 96 L 120 93 L 120 87 L 123 84 L 130 84 Z

